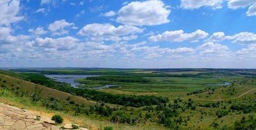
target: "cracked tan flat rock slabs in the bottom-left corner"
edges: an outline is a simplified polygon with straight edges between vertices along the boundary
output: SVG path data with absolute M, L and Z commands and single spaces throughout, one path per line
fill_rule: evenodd
M 27 110 L 0 103 L 0 130 L 60 130 L 72 129 L 72 124 L 56 126 L 55 122 L 48 117 L 42 117 Z M 86 128 L 79 128 L 88 130 Z

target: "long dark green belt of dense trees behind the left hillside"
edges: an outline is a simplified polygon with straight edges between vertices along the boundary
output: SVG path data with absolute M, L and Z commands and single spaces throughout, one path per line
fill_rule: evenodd
M 6 74 L 8 72 L 3 71 L 2 73 Z M 156 97 L 153 95 L 152 96 L 120 95 L 120 94 L 103 93 L 100 91 L 84 89 L 84 88 L 74 88 L 74 87 L 71 87 L 70 84 L 59 83 L 57 81 L 51 80 L 51 78 L 47 78 L 40 74 L 31 74 L 31 76 L 29 76 L 28 73 L 16 74 L 16 73 L 9 72 L 8 75 L 20 78 L 22 80 L 31 81 L 32 83 L 45 85 L 47 87 L 64 91 L 66 93 L 78 95 L 90 100 L 103 101 L 111 104 L 141 107 L 144 105 L 157 105 L 159 103 L 168 102 L 168 98 Z M 74 103 L 70 102 L 70 104 L 74 104 Z

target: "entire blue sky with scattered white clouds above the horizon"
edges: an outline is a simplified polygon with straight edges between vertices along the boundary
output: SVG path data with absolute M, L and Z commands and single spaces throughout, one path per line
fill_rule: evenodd
M 256 0 L 1 0 L 0 67 L 256 68 Z

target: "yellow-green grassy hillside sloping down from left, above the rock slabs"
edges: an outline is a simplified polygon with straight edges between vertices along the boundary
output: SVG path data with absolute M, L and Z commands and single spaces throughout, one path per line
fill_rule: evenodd
M 88 129 L 103 129 L 105 126 L 113 126 L 114 129 L 148 129 L 149 127 L 159 129 L 154 124 L 149 124 L 148 126 L 113 124 L 110 121 L 106 121 L 100 114 L 91 116 L 77 114 L 77 111 L 83 111 L 84 113 L 87 108 L 97 107 L 97 102 L 3 74 L 0 74 L 0 102 L 15 105 L 19 108 L 26 108 L 48 117 L 60 114 L 64 117 L 65 122 L 74 122 Z M 118 107 L 118 105 L 114 104 L 106 105 Z M 77 110 L 77 108 L 84 108 L 84 110 Z M 98 119 L 95 118 L 97 115 Z

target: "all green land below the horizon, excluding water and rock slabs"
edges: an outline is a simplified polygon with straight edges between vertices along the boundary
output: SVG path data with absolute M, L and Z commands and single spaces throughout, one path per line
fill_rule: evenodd
M 0 73 L 0 98 L 67 114 L 74 121 L 87 119 L 91 122 L 81 125 L 93 124 L 91 129 L 108 125 L 114 129 L 256 129 L 253 69 L 13 69 Z M 98 76 L 76 79 L 81 85 L 73 88 L 41 74 Z M 116 86 L 93 90 L 106 84 Z M 24 97 L 27 100 L 20 100 Z

